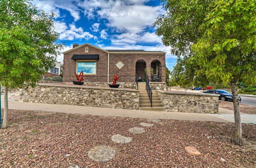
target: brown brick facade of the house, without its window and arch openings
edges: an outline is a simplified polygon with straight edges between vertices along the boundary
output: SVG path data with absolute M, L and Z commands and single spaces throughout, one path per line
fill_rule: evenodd
M 85 47 L 89 47 L 89 52 L 86 53 Z M 89 45 L 82 46 L 64 54 L 64 71 L 63 81 L 72 82 L 75 79 L 74 71 L 76 70 L 76 61 L 72 60 L 74 54 L 99 54 L 97 61 L 96 75 L 84 75 L 85 82 L 107 82 L 108 81 L 108 53 L 101 51 Z M 116 67 L 118 61 L 122 61 L 124 66 L 119 69 Z M 144 60 L 147 68 L 147 75 L 150 77 L 151 62 L 158 60 L 161 63 L 160 74 L 162 81 L 165 81 L 165 54 L 164 53 L 110 53 L 110 78 L 112 82 L 114 73 L 118 73 L 119 82 L 134 82 L 136 73 L 136 62 Z

